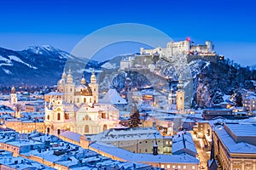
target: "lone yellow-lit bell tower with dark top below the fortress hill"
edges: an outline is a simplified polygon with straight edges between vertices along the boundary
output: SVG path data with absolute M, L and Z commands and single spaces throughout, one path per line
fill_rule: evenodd
M 177 111 L 183 111 L 185 108 L 185 92 L 182 77 L 178 78 L 177 92 L 176 92 L 176 109 Z

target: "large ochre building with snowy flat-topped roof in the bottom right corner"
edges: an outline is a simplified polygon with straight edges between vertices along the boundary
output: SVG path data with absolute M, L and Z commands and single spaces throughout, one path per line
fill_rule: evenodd
M 256 127 L 248 123 L 224 123 L 212 127 L 214 156 L 224 170 L 256 169 Z

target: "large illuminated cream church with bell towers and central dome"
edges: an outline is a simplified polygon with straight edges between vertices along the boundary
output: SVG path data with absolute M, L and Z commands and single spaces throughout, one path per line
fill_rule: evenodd
M 79 85 L 73 75 L 63 73 L 58 92 L 45 95 L 46 133 L 59 135 L 66 130 L 81 134 L 101 133 L 119 124 L 119 110 L 113 104 L 98 102 L 98 84 L 92 71 L 90 83 L 84 77 Z

